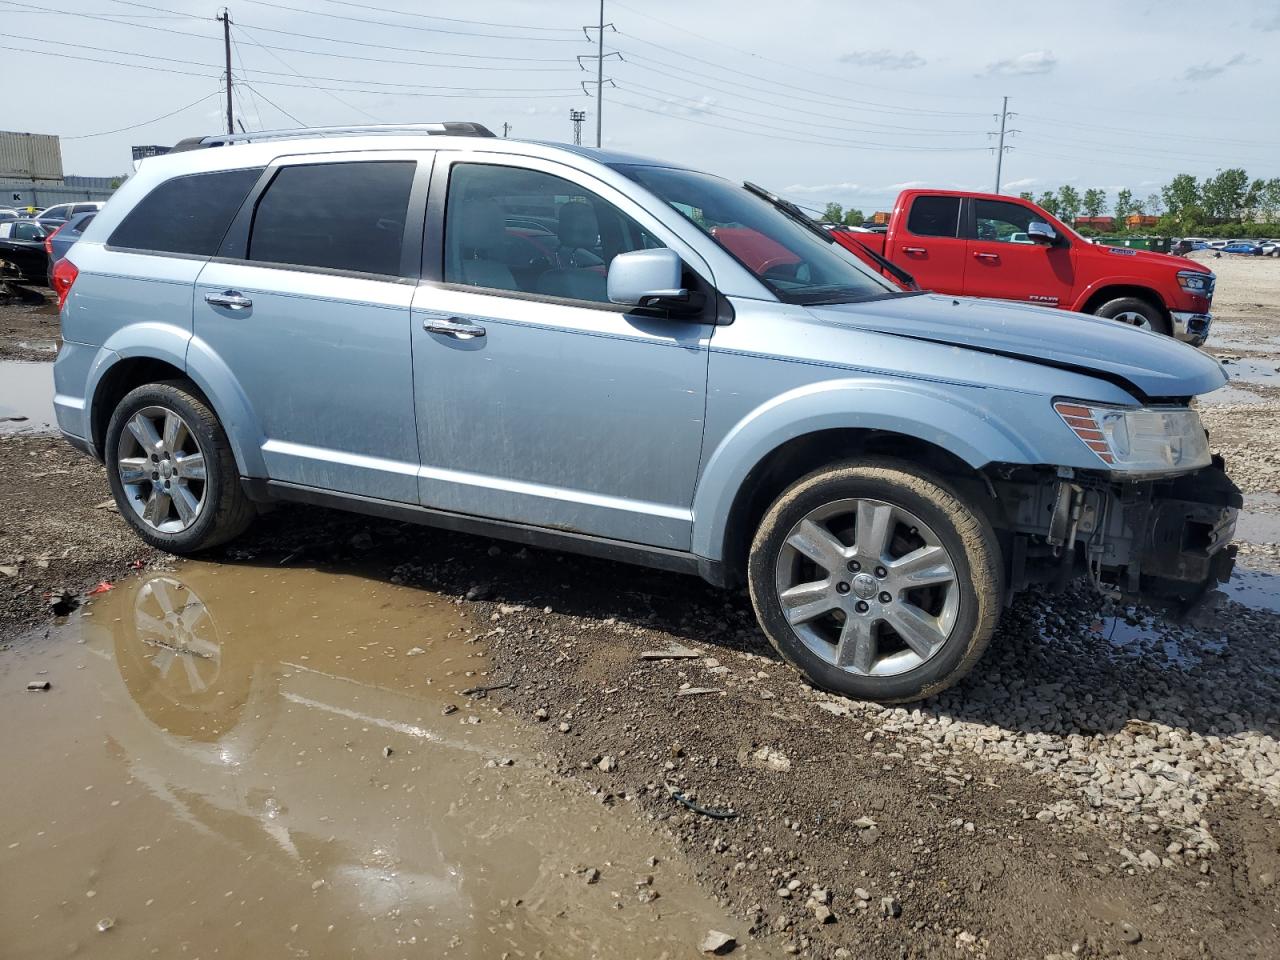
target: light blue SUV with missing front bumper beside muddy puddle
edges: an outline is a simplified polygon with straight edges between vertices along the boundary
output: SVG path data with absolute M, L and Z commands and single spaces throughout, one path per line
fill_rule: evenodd
M 184 141 L 55 287 L 63 433 L 187 554 L 273 500 L 746 584 L 852 696 L 1034 581 L 1190 598 L 1240 497 L 1184 344 L 895 283 L 765 191 L 477 124 Z

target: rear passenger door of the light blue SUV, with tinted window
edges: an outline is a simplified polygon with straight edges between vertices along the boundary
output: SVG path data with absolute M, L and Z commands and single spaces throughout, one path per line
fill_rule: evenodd
M 276 161 L 200 273 L 192 349 L 236 378 L 273 481 L 417 502 L 408 312 L 429 157 Z

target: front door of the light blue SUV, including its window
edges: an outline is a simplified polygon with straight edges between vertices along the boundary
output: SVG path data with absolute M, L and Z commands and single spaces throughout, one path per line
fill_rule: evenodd
M 412 324 L 424 506 L 690 548 L 712 316 L 605 293 L 612 257 L 658 246 L 710 289 L 705 262 L 611 184 L 440 155 Z

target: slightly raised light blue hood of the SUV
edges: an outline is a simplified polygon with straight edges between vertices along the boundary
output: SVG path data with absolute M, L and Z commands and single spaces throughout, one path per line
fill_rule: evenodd
M 1100 376 L 1142 398 L 1192 397 L 1226 384 L 1219 362 L 1194 347 L 1065 310 L 936 294 L 808 310 L 823 323 Z

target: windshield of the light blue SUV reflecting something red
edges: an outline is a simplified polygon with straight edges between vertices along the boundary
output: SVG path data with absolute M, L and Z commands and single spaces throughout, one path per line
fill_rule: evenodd
M 671 204 L 786 303 L 845 303 L 900 291 L 769 201 L 719 177 L 663 166 L 620 173 Z

